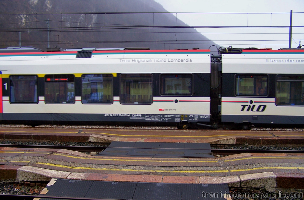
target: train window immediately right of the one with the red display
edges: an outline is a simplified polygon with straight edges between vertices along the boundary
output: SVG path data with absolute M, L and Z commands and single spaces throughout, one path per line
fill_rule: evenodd
M 81 79 L 83 104 L 113 103 L 112 74 L 83 74 Z

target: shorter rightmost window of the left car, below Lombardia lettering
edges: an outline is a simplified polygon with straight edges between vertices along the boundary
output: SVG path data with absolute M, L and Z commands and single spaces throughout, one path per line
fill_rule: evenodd
M 161 95 L 191 96 L 192 74 L 161 74 Z

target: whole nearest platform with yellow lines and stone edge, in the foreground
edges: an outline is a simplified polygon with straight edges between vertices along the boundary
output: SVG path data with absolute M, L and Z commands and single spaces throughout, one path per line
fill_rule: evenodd
M 3 181 L 228 184 L 232 188 L 304 189 L 304 154 L 243 153 L 221 158 L 91 156 L 65 149 L 0 149 Z

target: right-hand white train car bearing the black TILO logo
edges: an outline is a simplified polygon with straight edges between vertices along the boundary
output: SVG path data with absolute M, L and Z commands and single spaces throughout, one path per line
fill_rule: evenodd
M 304 50 L 222 54 L 221 121 L 304 123 Z

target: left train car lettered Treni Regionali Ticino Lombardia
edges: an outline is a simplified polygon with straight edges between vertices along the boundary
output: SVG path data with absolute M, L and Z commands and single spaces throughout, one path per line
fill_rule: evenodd
M 210 121 L 209 50 L 0 50 L 2 121 Z

